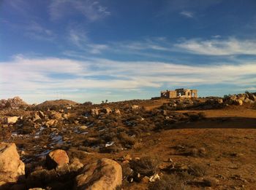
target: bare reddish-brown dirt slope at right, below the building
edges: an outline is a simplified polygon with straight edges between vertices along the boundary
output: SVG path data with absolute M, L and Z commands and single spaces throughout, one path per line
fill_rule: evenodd
M 182 111 L 184 112 L 184 111 Z M 162 162 L 173 159 L 181 165 L 198 165 L 206 170 L 203 177 L 216 178 L 217 186 L 208 189 L 255 189 L 256 187 L 256 111 L 233 107 L 207 110 L 199 122 L 178 124 L 176 129 L 150 132 L 141 139 L 139 149 L 121 154 L 105 154 L 118 159 L 125 154 L 132 157 L 157 156 Z M 206 149 L 203 157 L 178 154 L 176 147 Z M 94 155 L 93 157 L 95 157 Z M 102 154 L 96 157 L 102 157 Z M 124 189 L 148 189 L 148 184 L 130 183 Z M 187 185 L 184 189 L 207 189 Z

